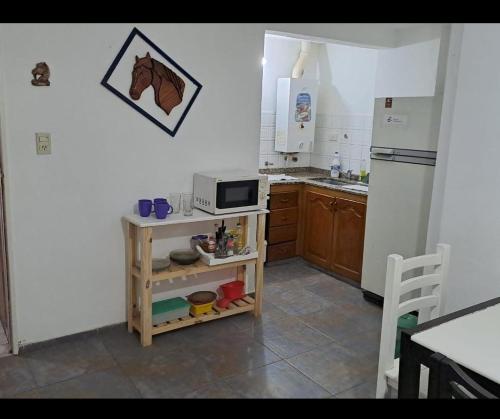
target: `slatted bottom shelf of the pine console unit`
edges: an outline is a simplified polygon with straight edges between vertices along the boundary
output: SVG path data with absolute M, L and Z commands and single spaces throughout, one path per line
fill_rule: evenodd
M 172 330 L 180 329 L 182 327 L 222 319 L 224 317 L 233 316 L 235 314 L 244 313 L 246 311 L 253 311 L 254 307 L 255 300 L 250 296 L 243 297 L 239 300 L 234 300 L 226 309 L 219 308 L 214 304 L 212 311 L 210 311 L 209 313 L 201 314 L 198 316 L 189 313 L 189 315 L 186 317 L 153 326 L 152 334 L 157 335 L 159 333 L 169 332 Z M 138 316 L 134 317 L 133 326 L 134 329 L 140 332 L 140 322 Z

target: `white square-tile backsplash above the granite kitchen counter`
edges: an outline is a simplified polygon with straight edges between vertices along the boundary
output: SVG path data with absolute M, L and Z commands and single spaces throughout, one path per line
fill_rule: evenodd
M 269 112 L 261 115 L 260 169 L 308 166 L 329 169 L 333 154 L 338 151 L 342 171 L 352 170 L 353 174 L 359 174 L 363 159 L 370 171 L 373 115 L 318 113 L 313 152 L 294 154 L 297 162 L 290 157 L 285 161 L 283 154 L 274 151 L 275 117 Z

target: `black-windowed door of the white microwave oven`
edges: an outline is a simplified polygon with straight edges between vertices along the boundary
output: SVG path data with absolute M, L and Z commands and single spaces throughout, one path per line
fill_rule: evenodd
M 217 184 L 217 209 L 256 206 L 258 196 L 258 180 L 219 182 Z

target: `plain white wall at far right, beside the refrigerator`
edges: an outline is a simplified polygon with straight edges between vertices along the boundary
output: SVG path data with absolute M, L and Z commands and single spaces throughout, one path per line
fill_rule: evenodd
M 460 27 L 453 29 L 450 46 L 460 46 Z M 452 248 L 447 312 L 500 296 L 498 39 L 498 24 L 464 25 L 461 47 L 452 49 L 456 67 L 448 70 L 456 82 L 445 86 L 445 97 L 451 89 L 455 98 L 443 109 L 451 113 L 444 196 L 433 199 L 431 214 L 440 212 L 437 240 Z

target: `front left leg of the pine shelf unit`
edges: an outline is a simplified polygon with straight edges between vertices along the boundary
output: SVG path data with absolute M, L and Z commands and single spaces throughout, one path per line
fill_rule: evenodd
M 149 346 L 152 335 L 152 232 L 151 227 L 141 228 L 141 344 Z

